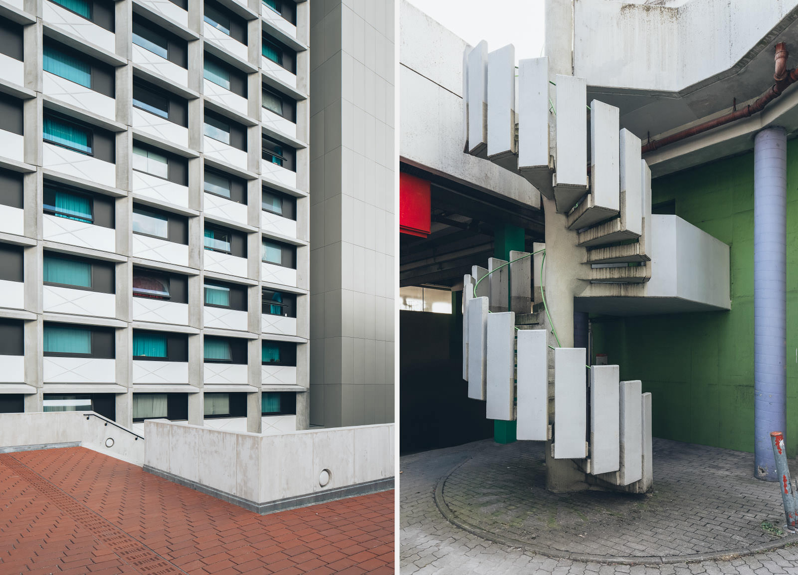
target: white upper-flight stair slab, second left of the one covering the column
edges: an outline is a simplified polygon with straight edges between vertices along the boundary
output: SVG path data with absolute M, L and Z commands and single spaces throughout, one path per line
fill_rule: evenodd
M 516 152 L 516 48 L 488 54 L 488 158 Z

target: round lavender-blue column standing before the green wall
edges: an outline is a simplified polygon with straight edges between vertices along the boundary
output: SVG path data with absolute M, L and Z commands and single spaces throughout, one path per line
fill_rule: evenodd
M 777 481 L 771 431 L 787 428 L 787 133 L 753 148 L 754 476 Z

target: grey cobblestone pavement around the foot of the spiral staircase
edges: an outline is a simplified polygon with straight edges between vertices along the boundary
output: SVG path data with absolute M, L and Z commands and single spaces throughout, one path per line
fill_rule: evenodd
M 472 534 L 469 531 L 452 525 L 440 514 L 434 492 L 438 480 L 446 476 L 453 468 L 452 486 L 444 484 L 444 499 L 454 508 L 455 519 L 468 514 L 470 524 L 477 530 L 490 526 L 495 533 L 503 537 L 526 538 L 529 545 L 541 545 L 542 541 L 558 542 L 576 541 L 584 553 L 595 553 L 599 537 L 605 540 L 605 549 L 618 552 L 618 543 L 613 534 L 626 530 L 629 541 L 637 544 L 645 541 L 646 545 L 658 545 L 665 553 L 697 552 L 702 549 L 696 545 L 701 538 L 706 539 L 703 549 L 712 549 L 713 545 L 729 545 L 745 547 L 756 543 L 767 542 L 772 537 L 761 528 L 761 522 L 771 521 L 776 525 L 784 523 L 780 515 L 778 490 L 775 497 L 768 495 L 768 485 L 747 481 L 750 467 L 750 455 L 733 451 L 717 450 L 711 447 L 694 446 L 685 443 L 663 442 L 656 440 L 654 445 L 654 496 L 622 496 L 589 492 L 570 495 L 543 495 L 543 470 L 539 461 L 543 459 L 542 447 L 537 444 L 518 442 L 508 446 L 500 446 L 492 441 L 469 443 L 464 446 L 451 447 L 437 451 L 407 455 L 401 458 L 401 494 L 400 494 L 400 557 L 401 573 L 630 573 L 635 575 L 649 573 L 687 574 L 687 573 L 738 573 L 740 575 L 765 575 L 766 573 L 796 573 L 798 575 L 798 546 L 787 546 L 766 553 L 746 555 L 742 557 L 721 557 L 713 561 L 677 562 L 660 565 L 607 565 L 601 561 L 575 561 L 555 559 L 535 553 L 524 542 L 517 545 L 492 542 L 487 538 Z M 528 453 L 527 453 L 528 451 Z M 503 455 L 504 454 L 504 455 Z M 717 456 L 722 457 L 718 458 Z M 712 458 L 712 459 L 710 459 Z M 480 466 L 481 462 L 481 466 Z M 697 471 L 690 471 L 693 463 Z M 739 466 L 742 465 L 742 471 Z M 509 467 L 509 469 L 508 469 Z M 710 468 L 711 467 L 711 468 Z M 514 486 L 523 473 L 530 471 L 536 476 L 526 491 Z M 693 473 L 703 473 L 705 487 L 691 486 Z M 506 479 L 492 486 L 500 475 Z M 721 495 L 710 495 L 715 487 L 725 491 L 723 497 L 739 507 L 745 519 L 729 518 L 726 508 L 728 502 Z M 772 488 L 772 484 L 769 484 Z M 504 490 L 501 496 L 490 498 L 491 488 Z M 472 490 L 475 497 L 468 504 L 466 490 Z M 676 495 L 685 492 L 687 497 L 679 502 Z M 737 495 L 735 495 L 735 493 Z M 524 497 L 524 494 L 526 496 Z M 742 494 L 742 495 L 741 495 Z M 542 497 L 541 497 L 542 495 Z M 587 510 L 583 510 L 572 500 L 589 501 L 598 496 L 597 501 Z M 459 497 L 459 498 L 458 498 Z M 504 498 L 504 501 L 502 499 Z M 626 500 L 626 498 L 629 498 Z M 639 505 L 643 502 L 643 506 Z M 745 506 L 745 503 L 748 505 Z M 513 506 L 515 509 L 503 510 L 502 506 Z M 675 506 L 675 508 L 674 508 Z M 698 510 L 700 521 L 690 522 L 689 517 L 678 514 L 681 506 L 688 510 Z M 709 510 L 715 509 L 717 514 L 731 525 L 717 527 Z M 554 510 L 546 512 L 542 518 L 527 514 L 529 510 Z M 618 511 L 620 510 L 620 511 Z M 580 518 L 579 513 L 585 517 Z M 664 520 L 658 520 L 657 512 Z M 692 511 L 690 511 L 692 512 Z M 612 523 L 603 526 L 602 522 Z M 681 539 L 669 542 L 672 535 L 677 534 L 677 525 L 687 525 L 688 530 L 681 534 Z M 581 531 L 577 528 L 583 525 Z M 527 529 L 524 529 L 524 525 Z M 635 531 L 630 526 L 638 526 Z M 740 527 L 732 530 L 732 526 Z M 749 526 L 749 530 L 745 530 Z M 533 531 L 536 530 L 536 531 Z M 589 531 L 591 530 L 591 531 Z M 726 531 L 729 534 L 726 534 Z M 538 537 L 534 538 L 533 535 Z M 584 535 L 584 538 L 579 535 Z M 642 536 L 653 539 L 648 541 Z M 749 542 L 749 543 L 746 543 Z M 562 543 L 562 542 L 558 542 Z M 630 546 L 621 549 L 626 556 L 652 554 L 646 549 Z M 542 546 L 542 545 L 541 545 Z M 569 549 L 569 545 L 559 545 Z M 540 548 L 540 547 L 539 547 Z M 727 547 L 728 549 L 728 547 Z M 725 559 L 725 560 L 724 560 Z

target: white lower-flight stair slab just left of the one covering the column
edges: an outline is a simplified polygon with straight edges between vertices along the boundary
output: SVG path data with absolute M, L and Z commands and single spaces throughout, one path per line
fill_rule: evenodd
M 520 329 L 517 353 L 516 438 L 548 439 L 548 376 L 545 329 Z

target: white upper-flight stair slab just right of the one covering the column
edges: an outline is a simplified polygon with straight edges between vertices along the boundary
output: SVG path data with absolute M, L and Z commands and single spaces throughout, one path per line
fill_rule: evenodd
M 597 207 L 621 207 L 618 108 L 591 102 L 591 195 Z

